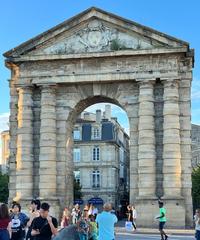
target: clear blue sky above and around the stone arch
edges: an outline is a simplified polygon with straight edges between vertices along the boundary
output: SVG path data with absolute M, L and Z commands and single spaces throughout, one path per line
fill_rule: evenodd
M 91 6 L 190 42 L 195 48 L 192 122 L 200 124 L 199 0 L 10 0 L 0 4 L 0 131 L 8 127 L 10 78 L 2 54 Z M 118 112 L 126 121 L 122 115 Z

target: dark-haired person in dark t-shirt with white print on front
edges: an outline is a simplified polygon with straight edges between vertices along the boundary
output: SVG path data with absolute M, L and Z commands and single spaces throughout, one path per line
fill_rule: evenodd
M 28 221 L 28 216 L 21 212 L 21 205 L 17 202 L 14 202 L 11 213 L 11 240 L 24 240 L 25 227 Z

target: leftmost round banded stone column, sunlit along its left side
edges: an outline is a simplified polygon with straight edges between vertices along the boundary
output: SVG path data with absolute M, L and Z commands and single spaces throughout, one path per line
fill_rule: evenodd
M 16 201 L 33 197 L 32 88 L 29 86 L 20 87 L 18 94 Z

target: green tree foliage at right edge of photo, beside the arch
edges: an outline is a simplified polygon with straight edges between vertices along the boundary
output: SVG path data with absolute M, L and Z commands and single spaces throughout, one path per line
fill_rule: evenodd
M 200 207 L 200 167 L 192 172 L 192 198 L 194 208 Z

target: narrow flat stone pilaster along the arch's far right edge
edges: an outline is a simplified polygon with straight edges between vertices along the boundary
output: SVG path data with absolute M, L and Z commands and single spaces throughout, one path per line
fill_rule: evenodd
M 191 73 L 187 78 L 181 79 L 179 85 L 180 102 L 180 137 L 181 137 L 181 179 L 182 196 L 185 200 L 186 226 L 193 226 L 193 208 L 192 208 L 192 153 L 191 153 Z

